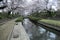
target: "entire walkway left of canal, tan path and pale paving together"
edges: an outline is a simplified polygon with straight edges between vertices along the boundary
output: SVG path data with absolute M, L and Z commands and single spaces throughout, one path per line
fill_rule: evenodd
M 13 19 L 0 26 L 0 40 L 29 40 L 21 22 L 16 25 L 15 20 Z

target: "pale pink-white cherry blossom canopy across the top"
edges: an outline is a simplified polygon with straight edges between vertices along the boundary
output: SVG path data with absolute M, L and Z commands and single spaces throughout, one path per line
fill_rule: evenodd
M 20 12 L 22 14 L 28 14 L 37 10 L 49 10 L 50 8 L 55 11 L 58 9 L 58 0 L 4 0 L 4 2 L 6 2 L 7 7 L 2 10 L 14 10 L 14 12 Z

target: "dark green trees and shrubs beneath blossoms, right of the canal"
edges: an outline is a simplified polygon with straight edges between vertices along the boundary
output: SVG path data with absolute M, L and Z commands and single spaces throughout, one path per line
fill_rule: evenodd
M 30 16 L 37 18 L 56 18 L 58 16 L 57 11 L 41 11 L 41 12 L 33 12 Z

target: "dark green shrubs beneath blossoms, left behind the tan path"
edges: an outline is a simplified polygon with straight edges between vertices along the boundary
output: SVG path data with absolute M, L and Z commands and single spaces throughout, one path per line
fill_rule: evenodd
M 20 16 L 19 13 L 15 13 L 15 14 L 11 14 L 9 12 L 8 13 L 6 13 L 6 12 L 0 13 L 0 19 L 6 19 L 6 18 L 12 19 L 12 18 L 16 18 L 18 16 Z

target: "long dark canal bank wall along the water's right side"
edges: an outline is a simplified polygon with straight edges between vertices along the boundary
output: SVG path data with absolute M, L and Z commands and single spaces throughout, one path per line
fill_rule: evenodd
M 30 19 L 30 21 L 34 22 L 35 24 L 40 24 L 40 25 L 43 25 L 47 28 L 50 28 L 50 29 L 53 29 L 55 31 L 60 32 L 60 26 L 48 24 L 48 23 L 45 23 L 45 22 L 42 22 L 42 21 L 35 21 L 35 20 L 32 20 L 31 18 L 29 18 L 29 19 Z

